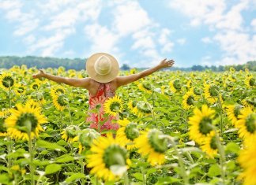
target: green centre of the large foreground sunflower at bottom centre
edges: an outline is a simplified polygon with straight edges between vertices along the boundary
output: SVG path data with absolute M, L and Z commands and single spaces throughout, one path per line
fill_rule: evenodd
M 104 151 L 103 160 L 107 168 L 111 165 L 126 165 L 126 150 L 119 145 L 112 144 Z

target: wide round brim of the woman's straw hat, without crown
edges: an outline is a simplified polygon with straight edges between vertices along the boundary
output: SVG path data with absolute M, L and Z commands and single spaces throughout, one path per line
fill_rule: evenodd
M 94 69 L 94 64 L 96 60 L 102 55 L 107 56 L 111 61 L 111 72 L 109 72 L 107 75 L 100 75 Z M 115 77 L 118 76 L 119 62 L 115 59 L 115 57 L 111 56 L 110 54 L 106 54 L 106 53 L 92 54 L 92 56 L 88 57 L 86 61 L 86 71 L 88 73 L 88 76 L 92 78 L 92 80 L 96 80 L 97 82 L 100 82 L 100 83 L 107 83 L 114 80 Z

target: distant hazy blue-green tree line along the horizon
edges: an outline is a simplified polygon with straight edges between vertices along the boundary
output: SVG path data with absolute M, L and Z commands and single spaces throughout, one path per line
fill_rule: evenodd
M 35 67 L 36 68 L 58 68 L 63 66 L 66 69 L 75 69 L 81 70 L 85 69 L 85 59 L 81 58 L 56 58 L 56 57 L 34 57 L 34 56 L 27 56 L 27 57 L 16 57 L 16 56 L 6 56 L 0 57 L 0 68 L 12 68 L 13 65 L 26 65 L 28 68 Z M 219 65 L 219 66 L 202 66 L 202 65 L 193 65 L 191 68 L 177 68 L 172 67 L 166 70 L 180 70 L 180 71 L 205 71 L 211 70 L 213 72 L 222 72 L 227 70 L 228 68 L 235 68 L 236 71 L 244 70 L 248 68 L 250 71 L 256 71 L 256 61 L 248 61 L 244 65 Z M 122 70 L 129 70 L 131 67 L 127 64 L 123 64 L 121 66 Z M 143 68 L 138 68 L 143 69 Z

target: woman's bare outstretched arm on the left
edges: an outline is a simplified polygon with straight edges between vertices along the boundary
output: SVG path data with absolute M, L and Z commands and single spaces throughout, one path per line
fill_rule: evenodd
M 43 72 L 42 69 L 34 75 L 32 75 L 34 79 L 36 78 L 47 78 L 48 80 L 52 80 L 57 83 L 65 83 L 67 85 L 73 86 L 73 87 L 84 87 L 88 89 L 90 79 L 89 78 L 84 78 L 84 79 L 73 79 L 73 78 L 66 78 L 62 76 L 54 76 L 48 73 Z

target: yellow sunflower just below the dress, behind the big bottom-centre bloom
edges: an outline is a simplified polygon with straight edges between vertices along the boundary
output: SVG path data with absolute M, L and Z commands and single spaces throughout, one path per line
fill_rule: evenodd
M 127 150 L 132 150 L 136 146 L 134 144 L 134 139 L 139 136 L 139 131 L 137 129 L 137 124 L 130 122 L 127 119 L 118 120 L 118 124 L 121 128 L 116 133 L 116 138 L 122 143 L 126 143 Z

